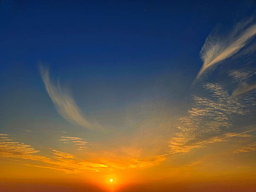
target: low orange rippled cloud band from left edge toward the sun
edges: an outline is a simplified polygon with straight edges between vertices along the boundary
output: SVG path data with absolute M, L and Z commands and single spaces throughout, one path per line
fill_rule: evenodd
M 39 150 L 35 150 L 31 145 L 20 142 L 5 141 L 4 139 L 0 138 L 0 157 L 5 157 L 8 159 L 33 160 L 47 164 L 47 166 L 31 164 L 26 165 L 50 168 L 68 173 L 81 172 L 83 170 L 98 172 L 101 168 L 108 167 L 107 165 L 101 163 L 77 160 L 76 156 L 55 149 L 52 150 L 52 157 L 38 155 L 39 152 Z

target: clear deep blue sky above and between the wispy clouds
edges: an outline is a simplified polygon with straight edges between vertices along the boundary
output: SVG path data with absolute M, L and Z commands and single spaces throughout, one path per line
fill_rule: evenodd
M 209 32 L 252 16 L 254 7 L 252 1 L 3 1 L 1 78 L 8 85 L 1 89 L 43 94 L 41 61 L 53 78 L 71 84 L 75 97 L 83 82 L 96 99 L 102 92 L 97 87 L 106 94 L 112 89 L 120 105 L 134 88 L 153 86 L 166 71 L 183 70 L 192 80 Z

